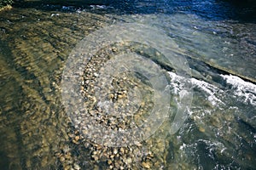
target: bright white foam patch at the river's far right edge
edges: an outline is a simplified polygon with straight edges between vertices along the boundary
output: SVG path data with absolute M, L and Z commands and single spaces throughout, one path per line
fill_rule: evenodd
M 252 82 L 245 82 L 240 77 L 233 75 L 220 75 L 224 80 L 232 85 L 234 94 L 245 98 L 246 102 L 256 105 L 256 85 Z

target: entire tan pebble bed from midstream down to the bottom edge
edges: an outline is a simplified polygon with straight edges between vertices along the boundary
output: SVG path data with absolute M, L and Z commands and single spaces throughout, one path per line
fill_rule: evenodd
M 134 48 L 128 50 L 132 51 Z M 132 131 L 129 133 L 129 139 L 120 137 L 119 141 L 115 138 L 114 141 L 97 140 L 102 139 L 102 135 L 111 136 L 113 132 L 137 129 L 141 125 L 147 127 L 144 125 L 147 124 L 144 122 L 145 117 L 154 107 L 154 89 L 147 79 L 143 80 L 140 75 L 129 71 L 121 72 L 111 79 L 102 77 L 101 72 L 106 72 L 105 64 L 118 53 L 122 53 L 119 44 L 113 45 L 112 48 L 104 48 L 85 66 L 79 89 L 84 98 L 84 109 L 78 115 L 73 115 L 77 118 L 74 130 L 68 135 L 71 144 L 77 145 L 77 150 L 85 150 L 90 160 L 84 163 L 84 160 L 75 158 L 76 162 L 71 161 L 71 152 L 61 150 L 55 156 L 59 158 L 64 169 L 79 169 L 83 166 L 92 169 L 152 169 L 160 167 L 163 163 L 146 147 L 145 141 L 139 139 L 143 131 Z M 106 105 L 101 105 L 101 102 L 106 101 L 111 106 L 110 109 Z M 96 125 L 99 125 L 98 129 Z M 148 123 L 148 131 L 149 125 Z M 165 147 L 161 144 L 160 147 L 163 152 Z M 160 150 L 154 151 L 161 155 Z M 75 155 L 73 154 L 74 157 Z

